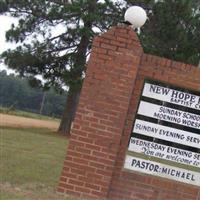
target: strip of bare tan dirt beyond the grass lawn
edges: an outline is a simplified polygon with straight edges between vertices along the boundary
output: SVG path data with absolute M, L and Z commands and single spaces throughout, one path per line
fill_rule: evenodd
M 59 122 L 54 120 L 40 120 L 0 113 L 0 126 L 20 128 L 49 128 L 56 131 Z

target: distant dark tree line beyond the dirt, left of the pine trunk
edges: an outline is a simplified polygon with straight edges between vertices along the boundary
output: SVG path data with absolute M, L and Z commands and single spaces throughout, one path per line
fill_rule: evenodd
M 31 87 L 28 78 L 0 71 L 0 106 L 8 110 L 23 110 L 61 118 L 66 93 L 58 94 L 53 88 L 44 91 Z

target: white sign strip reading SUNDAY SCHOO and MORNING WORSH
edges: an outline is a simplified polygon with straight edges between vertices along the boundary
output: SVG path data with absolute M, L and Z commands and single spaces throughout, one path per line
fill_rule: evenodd
M 138 114 L 200 130 L 200 115 L 141 101 Z

